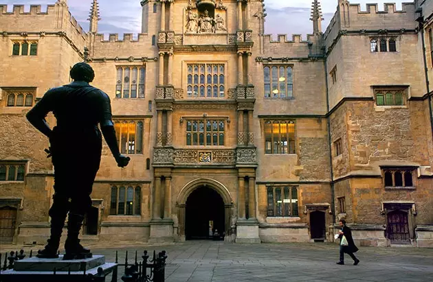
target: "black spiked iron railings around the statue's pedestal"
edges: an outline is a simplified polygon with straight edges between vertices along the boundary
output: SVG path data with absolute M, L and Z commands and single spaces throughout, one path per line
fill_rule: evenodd
M 33 251 L 30 250 L 29 257 L 31 258 L 33 255 Z M 3 267 L 1 267 L 1 261 L 2 261 L 2 255 L 0 254 L 0 275 L 1 271 L 5 270 L 12 270 L 14 268 L 14 262 L 25 259 L 26 255 L 24 253 L 24 250 L 21 250 L 20 252 L 12 251 L 5 254 L 4 261 L 3 261 Z M 133 263 L 129 263 L 128 261 L 128 251 L 126 251 L 125 254 L 125 261 L 124 263 L 118 262 L 118 251 L 115 252 L 115 263 L 116 266 L 113 268 L 113 272 L 111 275 L 107 275 L 107 273 L 104 272 L 104 270 L 100 267 L 98 268 L 97 274 L 86 274 L 86 270 L 83 270 L 82 276 L 79 275 L 79 277 L 74 274 L 71 274 L 71 271 L 69 270 L 67 275 L 62 275 L 63 281 L 96 281 L 96 282 L 102 282 L 106 281 L 106 279 L 110 279 L 110 282 L 118 282 L 119 279 L 119 272 L 123 272 L 124 274 L 120 279 L 125 282 L 164 282 L 165 281 L 165 267 L 166 267 L 166 251 L 163 250 L 162 252 L 159 252 L 158 254 L 153 251 L 153 256 L 149 256 L 147 250 L 144 250 L 143 255 L 141 256 L 142 259 L 138 259 L 137 257 L 137 251 L 135 251 L 135 259 L 133 260 Z M 58 275 L 56 273 L 56 269 L 53 270 L 53 276 Z M 60 276 L 60 275 L 59 275 Z M 69 279 L 70 277 L 70 279 Z M 18 277 L 16 277 L 18 278 Z M 60 279 L 60 277 L 59 277 Z M 3 279 L 0 278 L 0 281 Z M 17 279 L 16 281 L 19 281 Z M 53 279 L 54 281 L 54 279 Z

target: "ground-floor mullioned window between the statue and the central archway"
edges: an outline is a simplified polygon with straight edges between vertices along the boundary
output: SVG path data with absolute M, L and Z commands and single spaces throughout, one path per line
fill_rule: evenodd
M 140 215 L 141 187 L 111 187 L 110 215 Z

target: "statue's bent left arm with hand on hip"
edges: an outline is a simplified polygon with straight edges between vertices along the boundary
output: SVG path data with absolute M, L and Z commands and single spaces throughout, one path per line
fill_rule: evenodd
M 27 115 L 25 115 L 30 124 L 48 138 L 51 136 L 52 129 L 49 128 L 45 117 L 47 117 L 47 114 L 53 110 L 52 104 L 54 102 L 52 99 L 54 99 L 53 91 L 47 91 L 47 93 L 43 95 L 42 99 L 40 99 Z

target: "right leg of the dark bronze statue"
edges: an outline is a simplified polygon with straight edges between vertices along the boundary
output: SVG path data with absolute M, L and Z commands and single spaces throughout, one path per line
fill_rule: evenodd
M 63 259 L 83 259 L 91 257 L 90 250 L 81 246 L 78 236 L 80 235 L 80 229 L 85 214 L 91 208 L 90 194 L 98 170 L 82 170 L 82 172 L 86 171 L 87 173 L 82 175 L 80 183 L 71 195 L 71 210 L 69 211 L 67 221 L 67 239 L 65 242 L 65 255 L 63 256 Z

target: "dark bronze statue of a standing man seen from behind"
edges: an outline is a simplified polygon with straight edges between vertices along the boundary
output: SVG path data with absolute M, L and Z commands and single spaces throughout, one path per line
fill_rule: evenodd
M 118 148 L 109 96 L 89 85 L 95 77 L 93 69 L 79 62 L 70 75 L 74 82 L 49 89 L 26 115 L 30 124 L 49 138 L 47 151 L 54 165 L 54 196 L 49 209 L 51 235 L 45 249 L 38 251 L 37 257 L 41 258 L 58 257 L 67 215 L 63 259 L 91 257 L 90 250 L 81 246 L 78 234 L 91 208 L 90 194 L 101 160 L 102 135 L 98 124 L 118 166 L 126 167 L 130 161 Z M 49 112 L 54 113 L 57 121 L 53 129 L 45 121 Z

